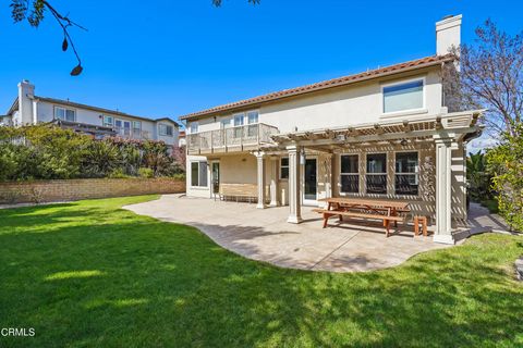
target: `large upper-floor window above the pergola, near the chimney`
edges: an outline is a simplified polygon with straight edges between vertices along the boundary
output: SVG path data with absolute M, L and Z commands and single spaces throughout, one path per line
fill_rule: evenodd
M 422 109 L 423 79 L 384 87 L 384 113 Z

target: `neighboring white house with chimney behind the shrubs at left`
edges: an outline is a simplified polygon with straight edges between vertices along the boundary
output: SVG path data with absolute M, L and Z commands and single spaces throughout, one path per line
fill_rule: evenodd
M 135 116 L 69 100 L 35 96 L 35 86 L 23 80 L 19 84 L 19 96 L 3 117 L 3 124 L 20 126 L 37 123 L 57 123 L 97 138 L 119 136 L 162 140 L 178 146 L 179 124 L 171 119 Z

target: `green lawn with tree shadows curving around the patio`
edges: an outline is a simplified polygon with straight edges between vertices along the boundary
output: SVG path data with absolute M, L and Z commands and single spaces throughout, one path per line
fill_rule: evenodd
M 132 197 L 0 211 L 0 347 L 522 347 L 523 237 L 370 273 L 278 269 Z

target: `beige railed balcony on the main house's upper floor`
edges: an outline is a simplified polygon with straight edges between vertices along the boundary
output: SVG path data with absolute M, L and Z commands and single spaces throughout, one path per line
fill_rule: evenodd
M 273 144 L 270 136 L 278 128 L 264 123 L 200 132 L 187 135 L 188 154 L 251 151 Z

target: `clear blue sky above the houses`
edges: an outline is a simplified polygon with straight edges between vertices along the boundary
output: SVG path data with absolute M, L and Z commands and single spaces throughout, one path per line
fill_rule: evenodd
M 435 22 L 463 14 L 462 40 L 487 17 L 523 29 L 523 1 L 118 0 L 51 3 L 88 28 L 72 32 L 84 73 L 48 17 L 14 25 L 0 8 L 0 114 L 27 78 L 36 95 L 159 117 L 416 59 L 435 52 Z

